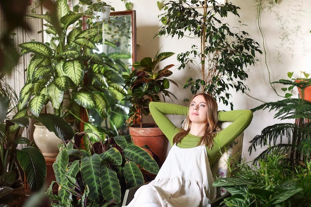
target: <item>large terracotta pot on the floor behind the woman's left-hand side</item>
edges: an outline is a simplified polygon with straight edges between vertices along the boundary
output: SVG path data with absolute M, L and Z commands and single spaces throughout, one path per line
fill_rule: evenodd
M 138 146 L 147 145 L 150 150 L 145 149 L 151 154 L 159 166 L 161 166 L 166 158 L 168 139 L 155 124 L 143 124 L 143 128 L 139 125 L 130 127 L 130 135 L 132 140 Z

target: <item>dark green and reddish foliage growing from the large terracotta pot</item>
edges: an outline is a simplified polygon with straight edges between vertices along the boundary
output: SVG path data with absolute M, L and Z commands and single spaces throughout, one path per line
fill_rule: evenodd
M 158 63 L 174 55 L 171 52 L 160 53 L 154 59 L 150 57 L 143 58 L 140 62 L 134 63 L 135 70 L 130 75 L 123 75 L 125 86 L 128 87 L 128 95 L 126 99 L 132 103 L 129 112 L 128 123 L 136 120 L 137 124 L 143 125 L 143 114 L 149 115 L 149 103 L 151 101 L 160 101 L 159 95 L 165 99 L 165 96 L 173 96 L 167 89 L 170 82 L 177 83 L 166 77 L 172 74 L 169 69 L 174 65 L 167 65 L 163 69 L 159 69 Z

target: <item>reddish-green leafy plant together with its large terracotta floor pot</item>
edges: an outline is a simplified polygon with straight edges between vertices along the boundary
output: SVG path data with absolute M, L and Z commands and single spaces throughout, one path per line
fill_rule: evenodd
M 134 70 L 130 75 L 123 75 L 125 86 L 128 88 L 126 100 L 131 103 L 128 119 L 130 135 L 132 135 L 135 144 L 149 147 L 150 153 L 156 155 L 155 159 L 159 165 L 166 157 L 168 141 L 156 124 L 143 122 L 143 115 L 150 115 L 149 103 L 161 101 L 160 95 L 164 100 L 165 96 L 176 98 L 167 90 L 170 82 L 177 85 L 175 81 L 167 78 L 172 74 L 169 69 L 174 65 L 167 65 L 163 69 L 159 68 L 159 62 L 173 54 L 164 52 L 156 55 L 154 59 L 143 58 L 134 63 Z

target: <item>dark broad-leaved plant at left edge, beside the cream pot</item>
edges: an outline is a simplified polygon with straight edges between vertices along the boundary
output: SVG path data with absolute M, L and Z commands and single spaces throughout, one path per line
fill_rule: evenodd
M 24 175 L 30 190 L 39 191 L 45 183 L 46 165 L 38 148 L 21 136 L 28 119 L 9 119 L 9 98 L 0 97 L 0 198 L 5 201 L 17 184 L 23 186 Z M 28 146 L 21 149 L 17 144 Z M 20 187 L 20 186 L 18 186 Z

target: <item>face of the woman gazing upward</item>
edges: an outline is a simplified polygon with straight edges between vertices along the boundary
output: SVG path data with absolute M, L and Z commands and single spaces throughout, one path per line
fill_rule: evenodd
M 202 95 L 197 95 L 191 101 L 189 119 L 193 123 L 207 123 L 207 104 Z

